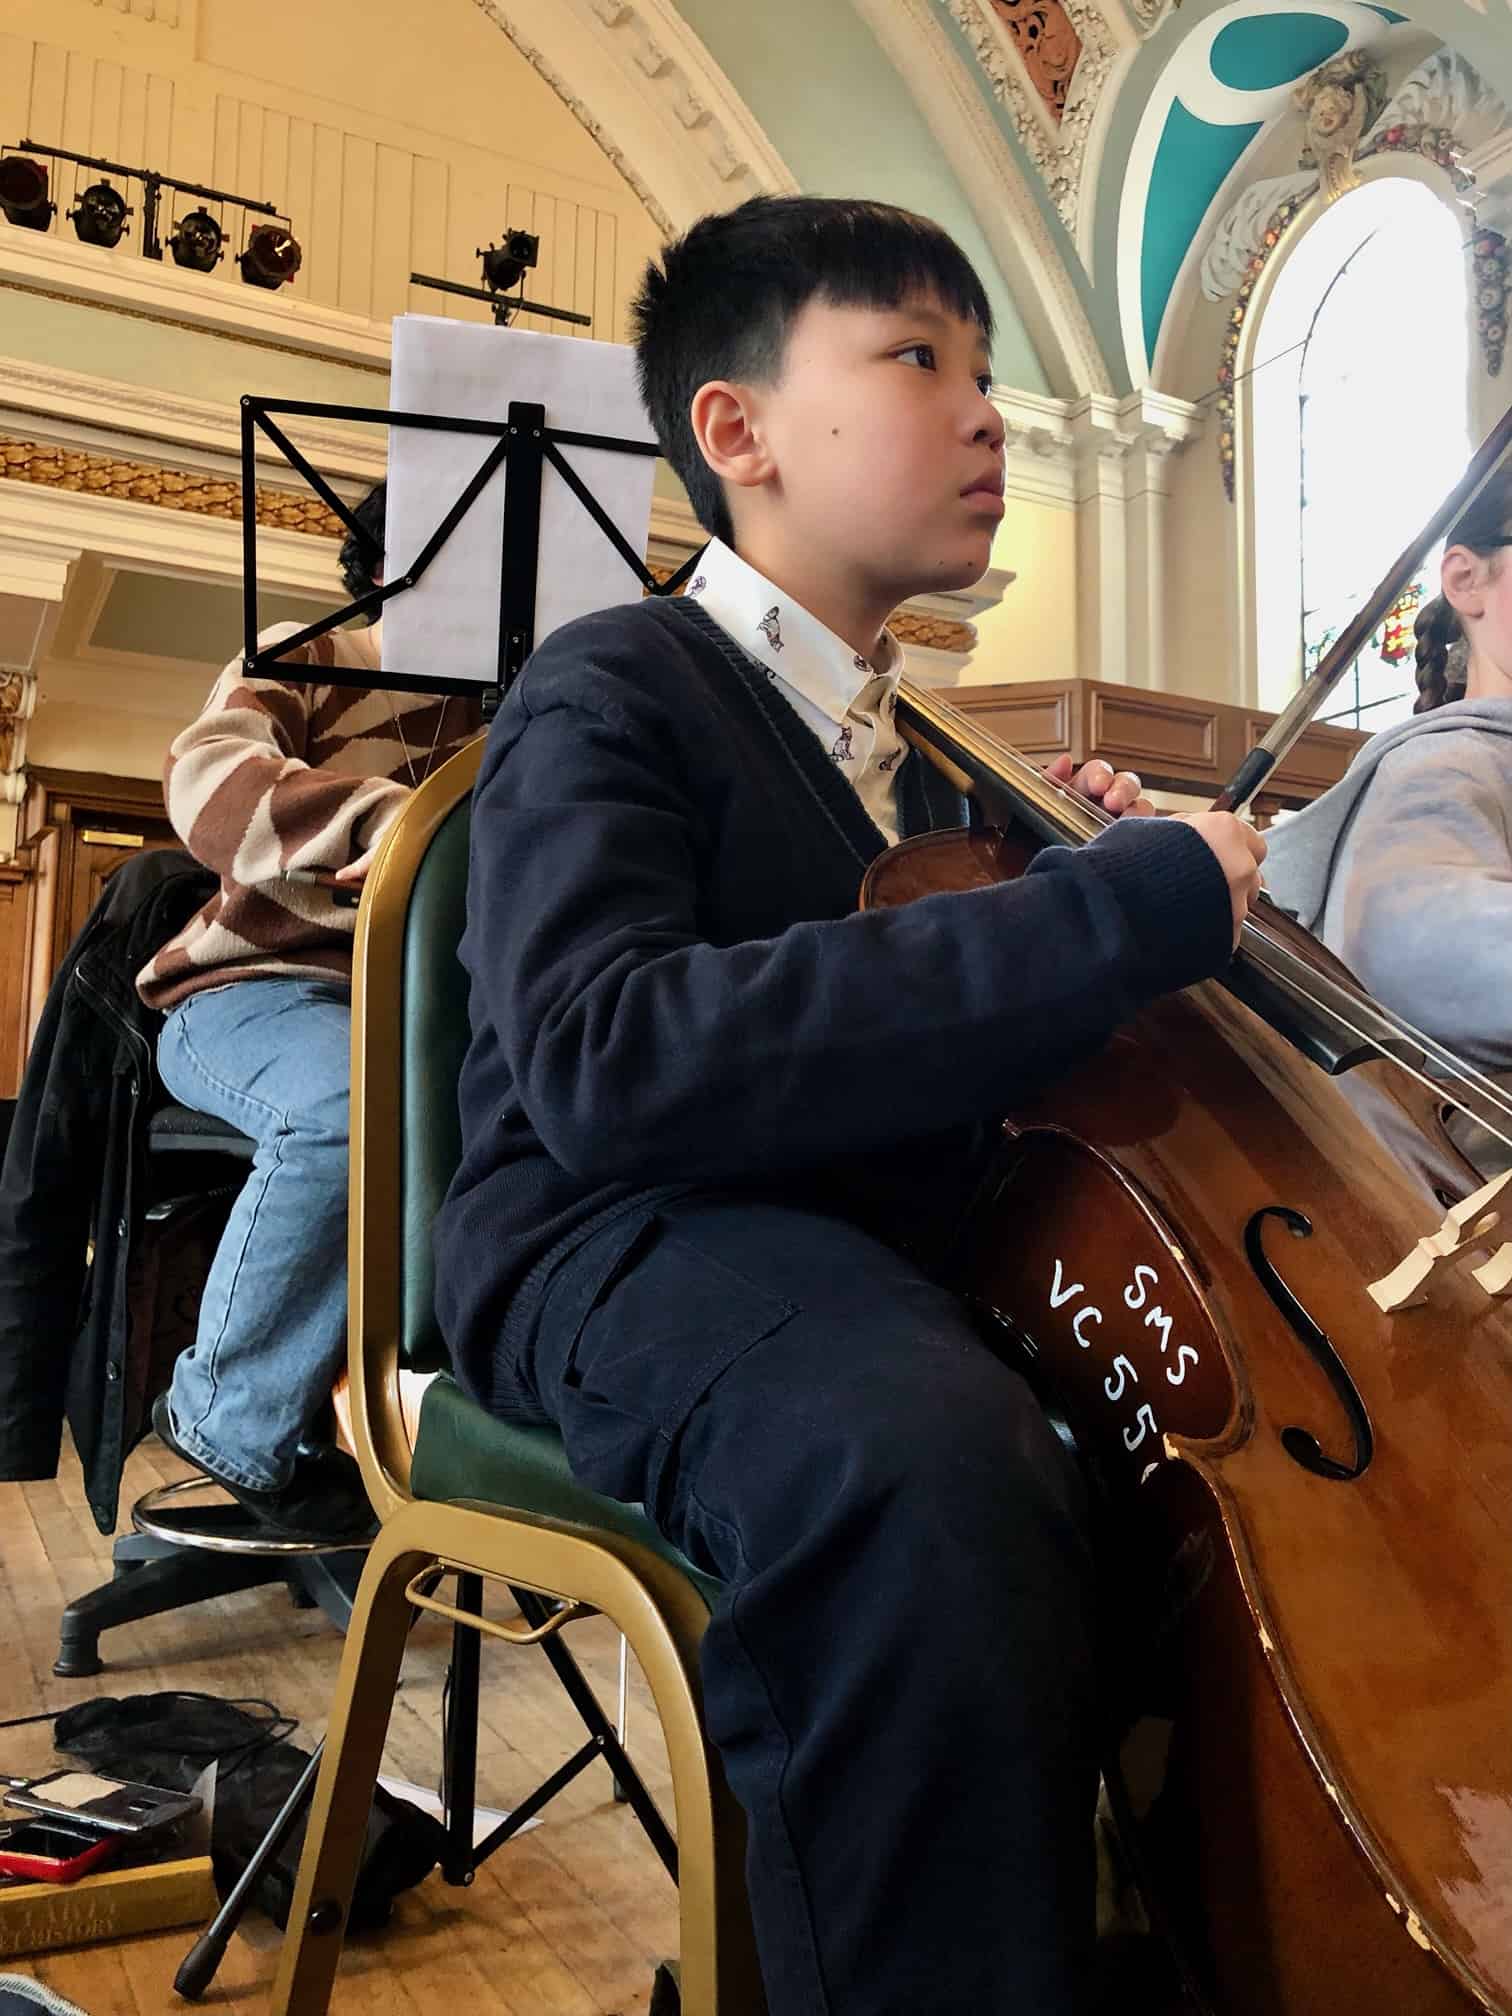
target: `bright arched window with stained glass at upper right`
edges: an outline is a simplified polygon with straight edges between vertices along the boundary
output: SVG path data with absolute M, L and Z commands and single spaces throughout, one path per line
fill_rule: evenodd
M 1298 679 L 1421 532 L 1470 458 L 1468 220 L 1387 175 L 1325 210 L 1276 276 L 1256 345 L 1260 704 Z M 1437 593 L 1437 552 L 1417 593 Z M 1417 698 L 1413 591 L 1322 720 L 1389 728 Z

